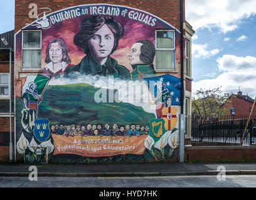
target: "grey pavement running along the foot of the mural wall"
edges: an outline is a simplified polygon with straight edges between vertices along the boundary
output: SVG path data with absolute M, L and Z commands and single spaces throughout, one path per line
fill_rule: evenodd
M 28 176 L 36 166 L 38 176 L 124 177 L 256 174 L 256 163 L 128 163 L 128 164 L 0 164 L 0 176 Z M 218 168 L 220 167 L 220 168 Z M 34 170 L 33 170 L 34 171 Z

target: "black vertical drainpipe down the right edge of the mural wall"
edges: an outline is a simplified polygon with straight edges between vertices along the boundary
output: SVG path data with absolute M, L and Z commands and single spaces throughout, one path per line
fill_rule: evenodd
M 181 1 L 181 114 L 184 113 L 184 31 L 183 31 L 183 0 Z

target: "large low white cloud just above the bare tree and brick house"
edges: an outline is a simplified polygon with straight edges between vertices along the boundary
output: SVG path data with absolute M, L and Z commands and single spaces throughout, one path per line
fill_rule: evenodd
M 238 57 L 233 55 L 224 55 L 217 59 L 218 68 L 223 73 L 215 79 L 203 79 L 201 81 L 193 81 L 193 94 L 200 88 L 216 88 L 221 89 L 227 93 L 233 91 L 237 93 L 238 86 L 240 86 L 243 94 L 248 93 L 251 98 L 256 95 L 256 57 L 246 56 Z

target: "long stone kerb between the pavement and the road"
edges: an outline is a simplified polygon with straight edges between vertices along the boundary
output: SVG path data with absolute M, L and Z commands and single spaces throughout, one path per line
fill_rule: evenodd
M 169 171 L 169 172 L 136 172 L 136 173 L 38 173 L 38 176 L 48 177 L 144 177 L 144 176 L 195 176 L 195 175 L 218 175 L 220 171 Z M 224 173 L 224 172 L 223 172 Z M 227 170 L 227 175 L 255 175 L 256 170 Z M 28 177 L 29 173 L 0 173 L 0 176 Z

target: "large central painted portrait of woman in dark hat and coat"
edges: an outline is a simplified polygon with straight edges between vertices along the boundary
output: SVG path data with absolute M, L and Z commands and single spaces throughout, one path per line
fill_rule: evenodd
M 83 18 L 80 31 L 75 35 L 73 42 L 82 47 L 86 56 L 82 61 L 65 71 L 65 76 L 72 72 L 82 74 L 112 75 L 116 78 L 130 79 L 127 68 L 117 64 L 110 55 L 118 47 L 119 39 L 124 34 L 124 27 L 119 21 L 109 16 L 88 16 Z

